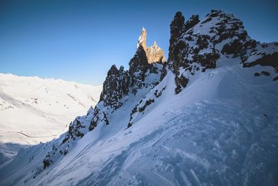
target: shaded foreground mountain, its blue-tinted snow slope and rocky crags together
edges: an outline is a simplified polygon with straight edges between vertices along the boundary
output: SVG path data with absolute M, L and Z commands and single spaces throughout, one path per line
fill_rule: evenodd
M 170 33 L 165 61 L 143 29 L 95 108 L 1 166 L 1 185 L 277 185 L 278 43 L 220 10 L 178 12 Z

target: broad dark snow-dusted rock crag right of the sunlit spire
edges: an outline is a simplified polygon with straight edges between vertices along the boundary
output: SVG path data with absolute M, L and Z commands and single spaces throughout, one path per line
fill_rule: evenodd
M 170 25 L 167 65 L 176 76 L 176 94 L 186 87 L 190 76 L 195 72 L 215 68 L 218 61 L 224 59 L 238 58 L 244 67 L 261 64 L 277 68 L 273 62 L 277 61 L 277 54 L 268 54 L 277 49 L 274 46 L 277 43 L 262 45 L 252 40 L 243 23 L 234 15 L 221 10 L 211 10 L 202 22 L 199 21 L 198 15 L 193 15 L 187 22 L 184 20 L 181 12 L 178 12 Z M 261 57 L 263 59 L 259 61 L 254 60 Z

